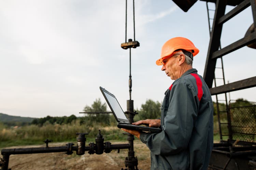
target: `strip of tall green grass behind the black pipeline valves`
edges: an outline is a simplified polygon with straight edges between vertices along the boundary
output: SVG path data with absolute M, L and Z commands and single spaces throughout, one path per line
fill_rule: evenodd
M 27 125 L 15 129 L 0 124 L 0 148 L 14 145 L 43 144 L 45 139 L 51 139 L 54 142 L 74 142 L 76 141 L 76 133 L 88 133 L 85 135 L 86 143 L 94 142 L 99 130 L 101 130 L 104 141 L 125 140 L 127 138 L 116 125 L 80 125 L 79 120 L 63 125 L 46 122 L 43 126 Z

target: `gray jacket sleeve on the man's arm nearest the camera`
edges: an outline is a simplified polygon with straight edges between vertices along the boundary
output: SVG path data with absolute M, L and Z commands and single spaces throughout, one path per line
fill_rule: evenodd
M 166 108 L 165 106 L 169 107 Z M 140 139 L 155 155 L 177 154 L 188 147 L 197 119 L 199 100 L 196 90 L 184 82 L 173 85 L 162 103 L 160 133 L 141 133 Z M 163 119 L 163 120 L 162 120 Z

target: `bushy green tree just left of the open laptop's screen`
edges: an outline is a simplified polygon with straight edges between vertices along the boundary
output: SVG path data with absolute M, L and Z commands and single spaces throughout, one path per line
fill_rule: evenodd
M 84 112 L 90 112 L 90 114 L 85 115 L 84 121 L 89 121 L 91 123 L 100 123 L 102 125 L 110 124 L 110 115 L 103 114 L 99 112 L 106 112 L 106 103 L 101 103 L 100 98 L 96 99 L 91 106 L 86 105 L 84 107 Z M 96 114 L 97 113 L 97 114 Z

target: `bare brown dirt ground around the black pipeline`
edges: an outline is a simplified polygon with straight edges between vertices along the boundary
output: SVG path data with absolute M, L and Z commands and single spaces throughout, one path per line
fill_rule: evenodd
M 112 144 L 120 144 L 127 142 L 111 142 Z M 65 146 L 66 143 L 49 143 L 49 147 Z M 86 144 L 88 146 L 88 143 Z M 37 146 L 16 146 L 9 148 L 32 148 L 32 147 L 45 147 L 45 145 Z M 5 148 L 7 149 L 7 148 Z M 145 144 L 139 140 L 134 141 L 135 156 L 138 158 L 138 169 L 150 169 L 150 151 Z M 24 154 L 24 155 L 11 155 L 9 160 L 9 167 L 12 170 L 116 170 L 126 168 L 124 164 L 125 157 L 127 157 L 128 149 L 112 150 L 110 153 L 103 153 L 101 155 L 88 154 L 67 155 L 63 152 L 60 153 L 40 153 L 40 154 Z M 0 156 L 2 157 L 2 155 Z

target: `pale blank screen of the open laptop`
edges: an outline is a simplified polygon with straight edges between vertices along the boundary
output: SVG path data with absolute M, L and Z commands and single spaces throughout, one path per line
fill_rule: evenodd
M 119 105 L 118 101 L 116 100 L 116 98 L 114 98 L 113 96 L 109 95 L 108 93 L 106 93 L 105 91 L 103 91 L 106 98 L 109 101 L 110 107 L 112 107 L 116 117 L 118 119 L 126 119 L 126 116 L 123 112 L 123 109 L 121 108 L 121 106 Z

